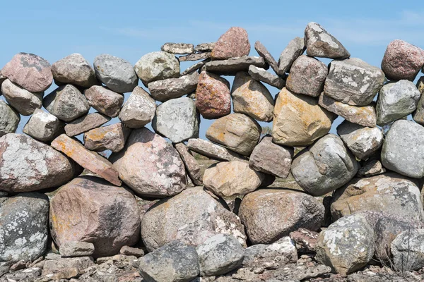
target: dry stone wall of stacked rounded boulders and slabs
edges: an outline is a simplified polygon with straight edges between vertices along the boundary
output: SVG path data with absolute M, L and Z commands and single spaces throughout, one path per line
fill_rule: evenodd
M 394 40 L 377 68 L 318 23 L 278 61 L 250 49 L 231 27 L 134 66 L 13 56 L 0 72 L 1 281 L 424 278 L 424 50 Z M 394 272 L 360 271 L 372 260 Z

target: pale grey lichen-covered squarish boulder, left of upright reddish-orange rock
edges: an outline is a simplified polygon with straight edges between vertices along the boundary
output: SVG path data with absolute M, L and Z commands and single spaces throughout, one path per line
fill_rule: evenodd
M 152 128 L 174 143 L 199 137 L 200 115 L 188 97 L 171 99 L 156 108 Z

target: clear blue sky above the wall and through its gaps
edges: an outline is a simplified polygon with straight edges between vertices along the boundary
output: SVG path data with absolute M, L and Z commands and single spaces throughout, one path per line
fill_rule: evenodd
M 278 60 L 290 39 L 303 37 L 310 21 L 326 28 L 351 56 L 374 66 L 380 66 L 394 39 L 424 48 L 422 1 L 20 0 L 1 3 L 0 68 L 20 51 L 50 63 L 72 53 L 93 63 L 106 53 L 134 65 L 165 42 L 214 42 L 232 26 L 247 30 L 251 55 L 257 56 L 253 46 L 259 40 Z M 182 63 L 182 71 L 190 64 Z M 54 85 L 45 94 L 52 90 Z M 18 130 L 27 119 L 22 117 Z M 201 137 L 210 124 L 202 121 Z

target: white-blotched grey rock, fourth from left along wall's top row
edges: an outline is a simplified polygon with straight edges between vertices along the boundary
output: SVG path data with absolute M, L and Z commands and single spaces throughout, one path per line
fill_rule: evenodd
M 155 80 L 179 77 L 179 61 L 174 55 L 163 51 L 148 53 L 134 66 L 144 85 Z

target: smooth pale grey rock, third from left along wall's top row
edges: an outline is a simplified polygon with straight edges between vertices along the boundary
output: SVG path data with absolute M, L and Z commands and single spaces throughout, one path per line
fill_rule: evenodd
M 98 80 L 114 92 L 131 92 L 137 86 L 139 79 L 129 61 L 109 54 L 101 54 L 95 57 L 93 65 Z

